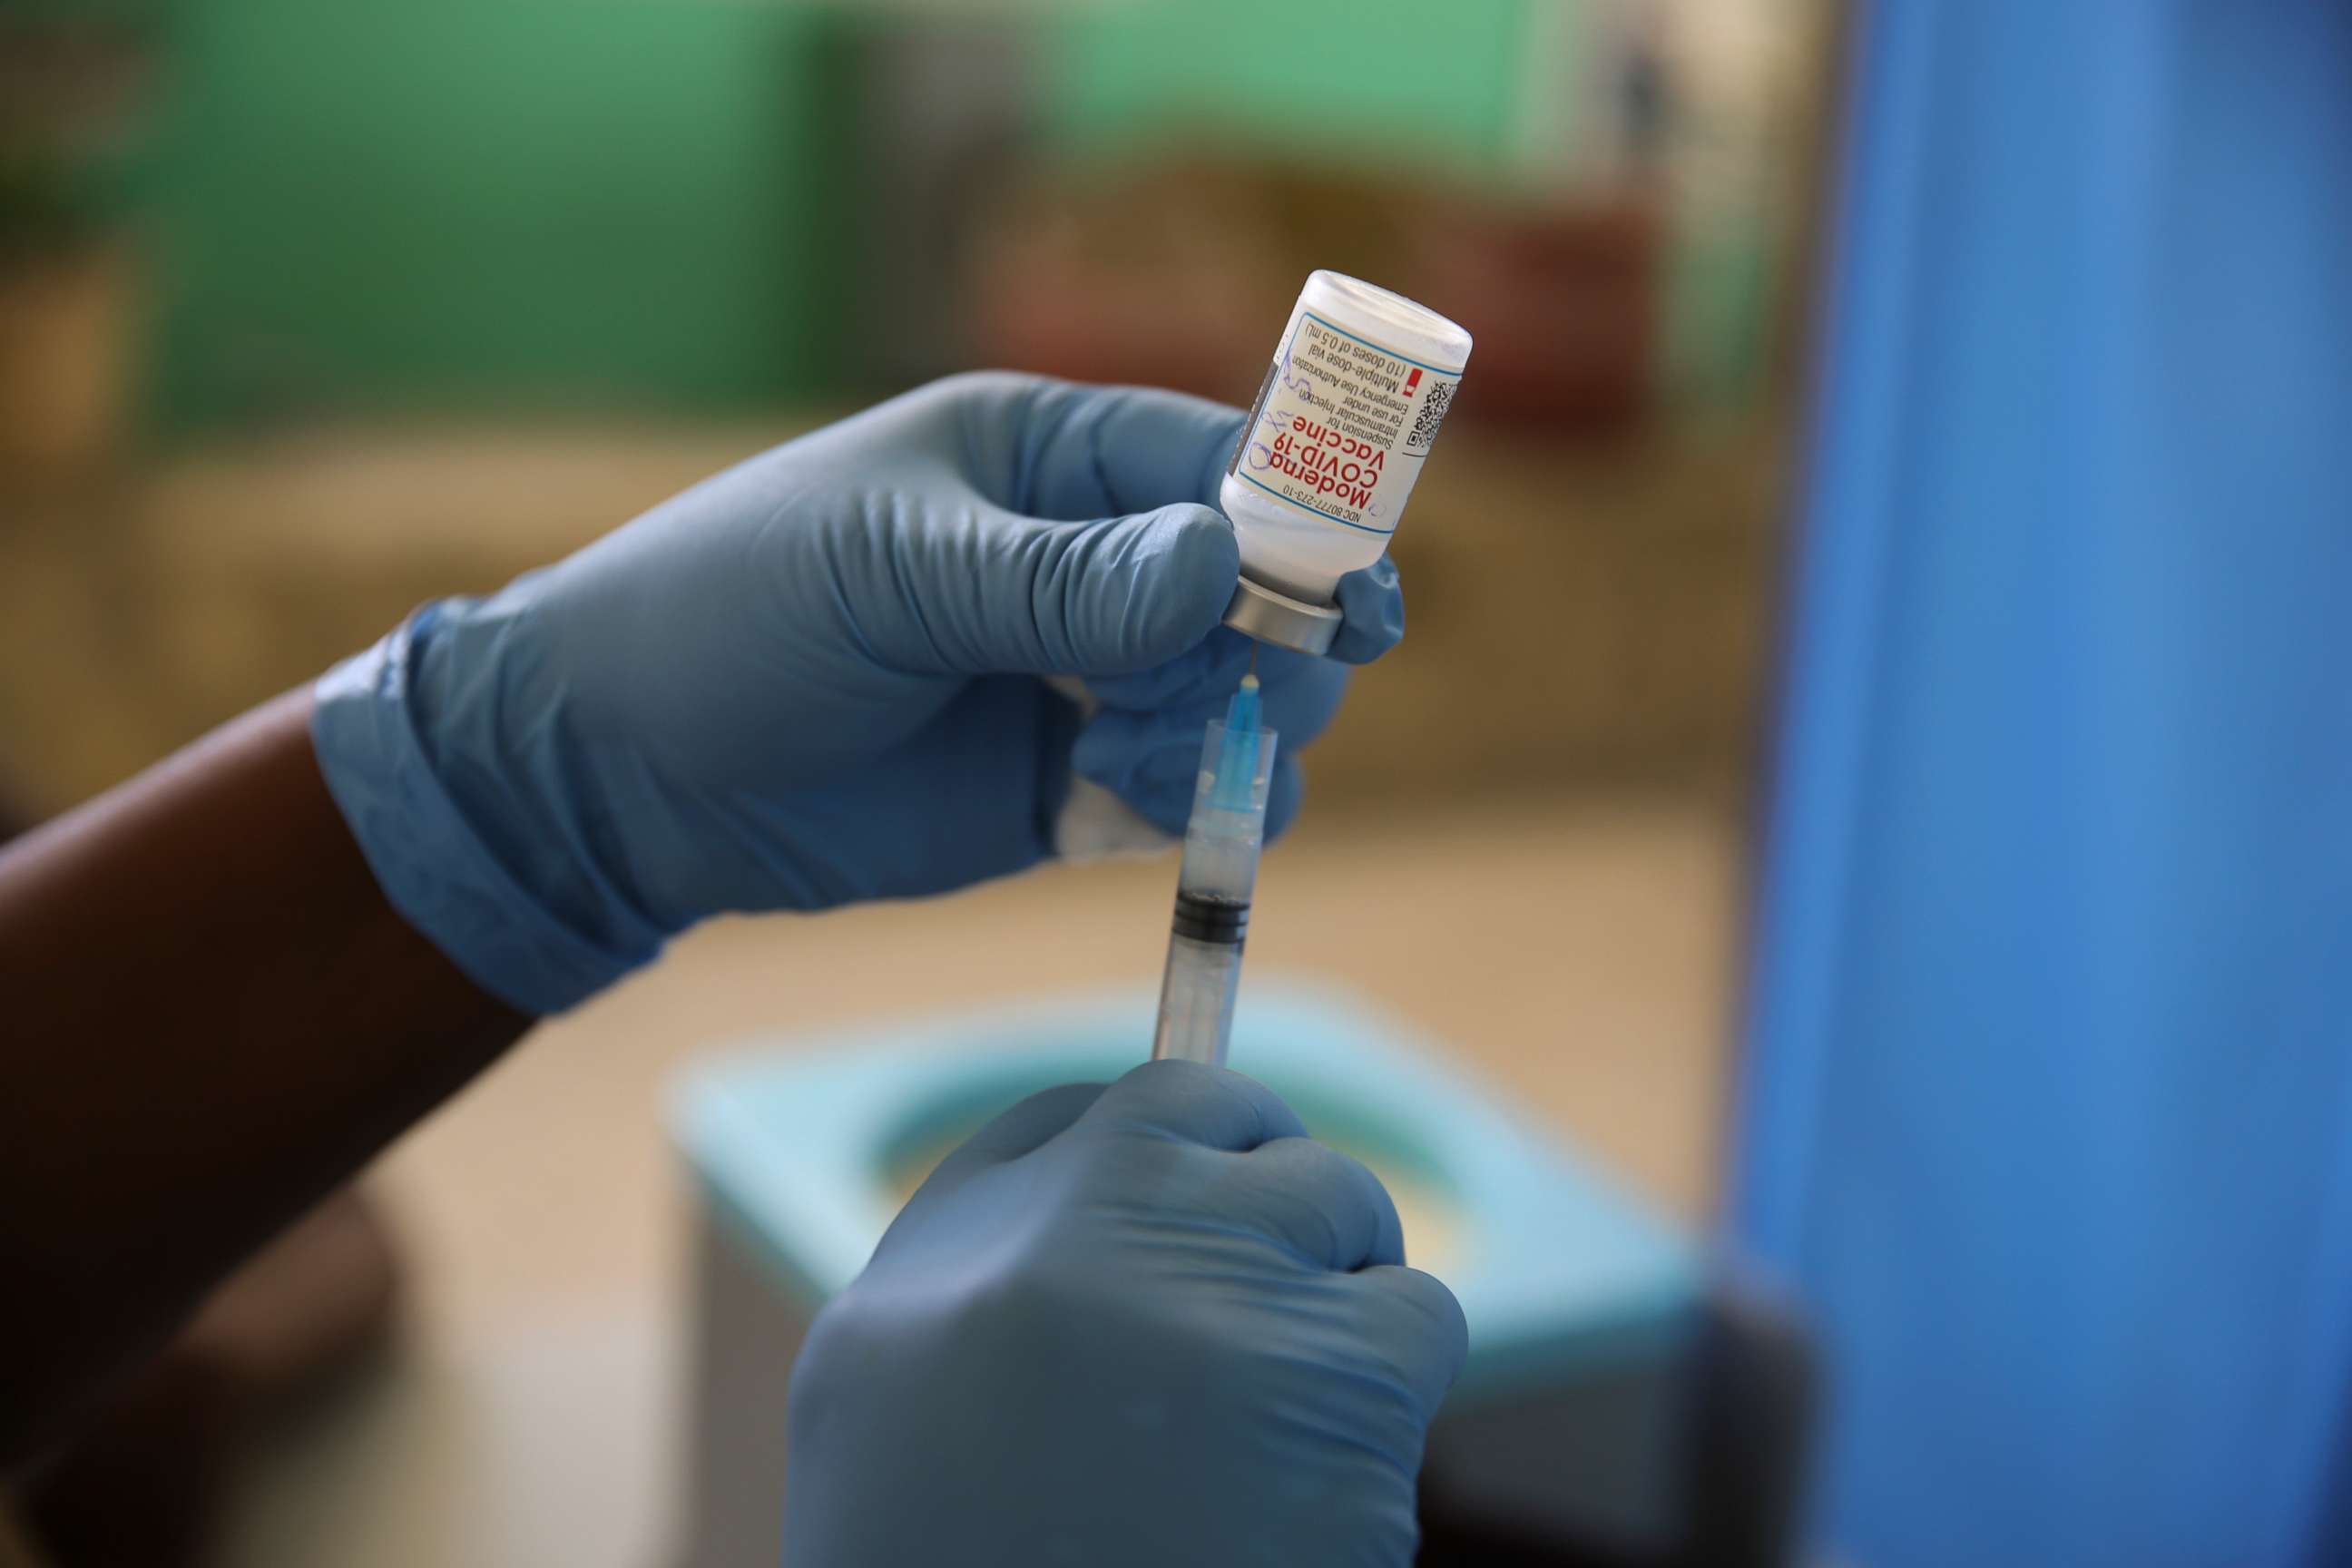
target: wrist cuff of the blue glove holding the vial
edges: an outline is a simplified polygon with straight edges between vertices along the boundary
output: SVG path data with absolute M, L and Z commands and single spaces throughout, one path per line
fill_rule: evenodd
M 560 1013 L 661 952 L 661 933 L 593 938 L 492 851 L 433 766 L 419 668 L 426 607 L 313 689 L 310 743 L 350 837 L 390 905 L 449 961 L 524 1013 Z

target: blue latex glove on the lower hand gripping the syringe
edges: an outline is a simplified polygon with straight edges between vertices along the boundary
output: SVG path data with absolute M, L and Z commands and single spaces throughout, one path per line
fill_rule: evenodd
M 786 1563 L 1385 1563 L 1468 1331 L 1381 1182 L 1150 1063 L 950 1154 L 793 1368 Z

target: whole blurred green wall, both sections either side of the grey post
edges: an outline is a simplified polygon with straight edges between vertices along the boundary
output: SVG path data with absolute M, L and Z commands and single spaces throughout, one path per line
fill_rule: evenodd
M 169 2 L 146 205 L 165 433 L 842 383 L 863 5 Z M 1209 132 L 1505 174 L 1545 2 L 1056 12 L 1035 108 L 1065 153 Z

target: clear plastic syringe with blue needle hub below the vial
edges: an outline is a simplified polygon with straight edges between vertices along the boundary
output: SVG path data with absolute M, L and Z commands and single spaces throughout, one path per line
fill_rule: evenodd
M 1242 938 L 1249 936 L 1249 896 L 1258 884 L 1265 837 L 1265 790 L 1275 776 L 1275 731 L 1258 712 L 1258 677 L 1244 675 L 1225 708 L 1209 722 L 1200 752 L 1192 820 L 1183 830 L 1176 872 L 1176 926 L 1169 966 L 1160 980 L 1160 1027 L 1152 1060 L 1225 1065 L 1232 997 L 1242 985 Z

